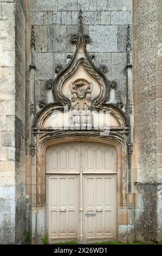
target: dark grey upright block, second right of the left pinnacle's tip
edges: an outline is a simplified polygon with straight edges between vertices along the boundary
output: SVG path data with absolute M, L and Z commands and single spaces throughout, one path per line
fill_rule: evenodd
M 67 51 L 67 28 L 66 26 L 48 27 L 48 52 Z

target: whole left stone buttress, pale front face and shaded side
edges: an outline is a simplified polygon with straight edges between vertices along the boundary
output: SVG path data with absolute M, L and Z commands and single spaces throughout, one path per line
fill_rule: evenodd
M 25 139 L 24 128 L 22 130 L 21 126 L 24 120 L 23 106 L 18 110 L 20 98 L 25 95 L 24 91 L 21 93 L 25 88 L 24 25 L 21 2 L 1 0 L 0 243 L 20 242 L 25 228 L 25 169 L 21 163 L 24 155 L 20 153 Z M 25 98 L 22 102 L 24 101 Z

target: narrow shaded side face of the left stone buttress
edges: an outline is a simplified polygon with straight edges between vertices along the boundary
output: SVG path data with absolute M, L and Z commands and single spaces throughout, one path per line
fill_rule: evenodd
M 25 230 L 25 8 L 15 1 L 15 202 L 16 241 Z

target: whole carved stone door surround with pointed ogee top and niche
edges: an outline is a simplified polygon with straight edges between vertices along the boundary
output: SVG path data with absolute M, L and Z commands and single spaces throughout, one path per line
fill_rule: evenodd
M 86 51 L 80 13 L 76 52 L 69 66 L 47 83 L 54 102 L 37 114 L 32 128 L 31 208 L 46 208 L 46 149 L 49 145 L 85 141 L 113 144 L 118 152 L 118 208 L 132 207 L 127 199 L 127 139 L 129 123 L 125 113 L 107 103 L 109 84 L 103 73 L 91 62 Z M 100 117 L 102 115 L 102 125 Z M 97 121 L 96 121 L 97 120 Z

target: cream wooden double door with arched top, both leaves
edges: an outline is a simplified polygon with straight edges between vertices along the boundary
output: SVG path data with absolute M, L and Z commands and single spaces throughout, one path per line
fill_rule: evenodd
M 47 149 L 49 240 L 108 240 L 116 236 L 116 151 L 102 144 Z

